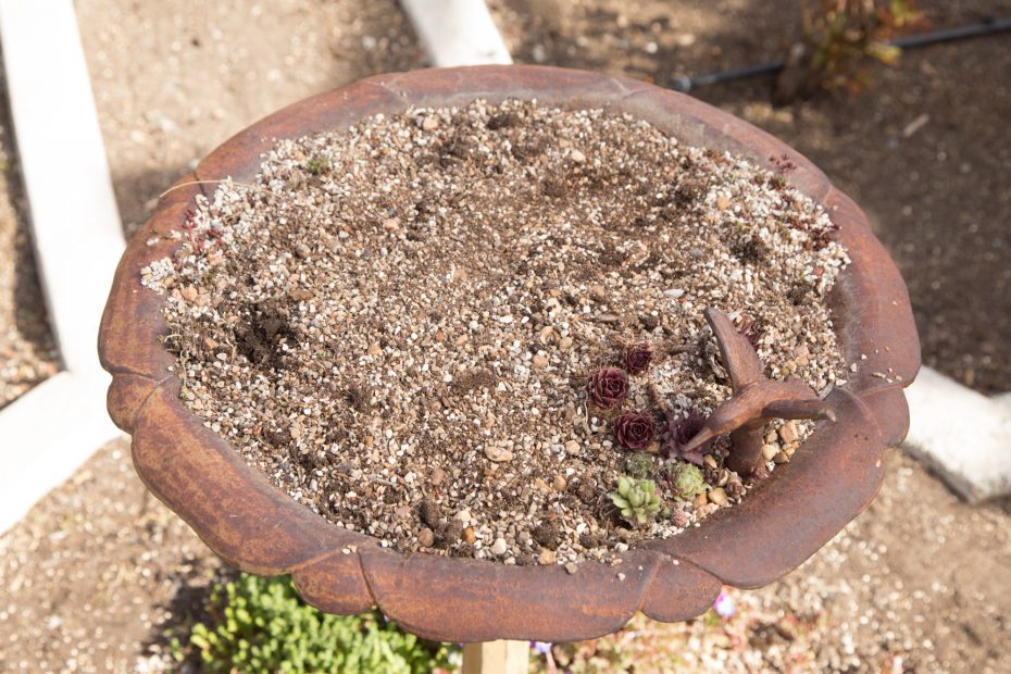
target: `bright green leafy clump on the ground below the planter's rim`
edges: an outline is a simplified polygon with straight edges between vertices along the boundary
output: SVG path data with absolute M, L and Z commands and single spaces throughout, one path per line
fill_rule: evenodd
M 448 667 L 450 649 L 422 641 L 377 612 L 341 616 L 307 604 L 290 578 L 242 574 L 216 586 L 189 648 L 208 672 L 429 672 Z

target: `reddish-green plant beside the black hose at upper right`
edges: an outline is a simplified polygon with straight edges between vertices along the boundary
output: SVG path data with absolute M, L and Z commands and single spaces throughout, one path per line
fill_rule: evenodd
M 859 90 L 870 83 L 866 61 L 894 64 L 900 50 L 888 41 L 923 23 L 916 0 L 804 0 L 811 71 L 825 88 Z

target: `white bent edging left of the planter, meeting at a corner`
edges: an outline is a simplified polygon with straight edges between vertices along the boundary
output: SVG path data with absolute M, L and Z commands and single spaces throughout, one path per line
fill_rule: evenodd
M 124 240 L 71 0 L 0 0 L 35 258 L 64 372 L 0 411 L 0 533 L 120 432 L 96 342 Z

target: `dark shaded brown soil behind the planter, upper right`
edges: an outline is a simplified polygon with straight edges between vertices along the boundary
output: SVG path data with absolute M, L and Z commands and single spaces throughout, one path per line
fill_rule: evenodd
M 781 61 L 800 36 L 794 0 L 495 0 L 514 59 L 671 86 Z M 934 27 L 1011 16 L 1009 0 L 921 0 Z M 1011 50 L 1007 34 L 872 66 L 863 93 L 771 105 L 773 80 L 694 96 L 808 155 L 866 210 L 909 287 L 923 360 L 983 392 L 1011 388 Z

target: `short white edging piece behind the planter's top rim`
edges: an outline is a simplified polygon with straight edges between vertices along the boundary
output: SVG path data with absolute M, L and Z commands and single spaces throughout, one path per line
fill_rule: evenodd
M 512 63 L 485 0 L 400 0 L 436 67 Z

